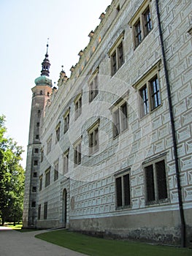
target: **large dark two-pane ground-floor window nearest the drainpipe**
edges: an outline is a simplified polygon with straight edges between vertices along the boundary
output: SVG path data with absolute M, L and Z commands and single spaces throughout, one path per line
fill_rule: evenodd
M 147 205 L 167 199 L 165 161 L 150 162 L 144 165 Z

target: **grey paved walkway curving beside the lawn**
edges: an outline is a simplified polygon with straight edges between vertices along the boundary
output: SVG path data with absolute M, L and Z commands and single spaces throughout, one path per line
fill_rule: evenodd
M 34 237 L 42 232 L 46 231 L 20 233 L 9 227 L 0 227 L 0 256 L 83 256 Z

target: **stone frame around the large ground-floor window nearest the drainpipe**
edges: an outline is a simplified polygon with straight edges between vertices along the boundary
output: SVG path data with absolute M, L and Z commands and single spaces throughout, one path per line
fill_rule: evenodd
M 161 162 L 164 162 L 164 181 L 158 180 L 158 167 L 157 165 Z M 152 167 L 152 168 L 151 168 Z M 161 204 L 161 203 L 168 203 L 169 202 L 169 186 L 168 186 L 168 176 L 167 176 L 167 170 L 166 170 L 166 159 L 165 157 L 158 157 L 155 159 L 151 159 L 150 161 L 144 162 L 142 164 L 142 168 L 144 171 L 145 176 L 145 205 L 146 206 L 153 206 L 155 204 Z M 162 173 L 161 173 L 162 178 Z M 153 179 L 153 180 L 152 180 Z M 153 183 L 152 183 L 153 182 Z M 147 184 L 151 183 L 150 185 L 152 187 L 147 187 Z M 162 184 L 164 183 L 164 186 Z M 162 194 L 165 194 L 166 197 L 160 198 L 160 189 L 162 191 L 162 187 L 164 187 L 164 192 Z M 150 192 L 150 197 L 149 197 Z

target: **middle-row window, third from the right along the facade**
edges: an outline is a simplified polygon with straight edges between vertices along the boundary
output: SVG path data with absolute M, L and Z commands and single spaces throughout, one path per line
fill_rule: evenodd
M 94 152 L 99 150 L 99 121 L 96 121 L 89 129 L 88 129 L 88 143 L 89 143 L 89 154 L 93 154 Z

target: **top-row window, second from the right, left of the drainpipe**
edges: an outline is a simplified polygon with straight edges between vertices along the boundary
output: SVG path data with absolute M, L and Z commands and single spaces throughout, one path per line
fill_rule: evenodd
M 123 38 L 124 38 L 124 31 L 120 34 L 120 37 L 116 40 L 115 44 L 109 51 L 109 56 L 111 59 L 111 72 L 112 75 L 120 69 L 120 67 L 124 63 L 124 53 L 123 53 Z

